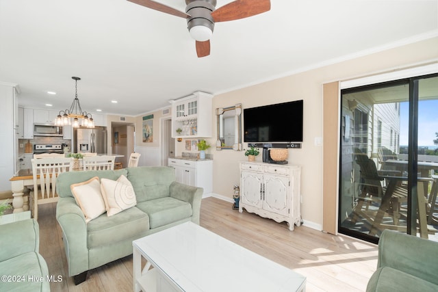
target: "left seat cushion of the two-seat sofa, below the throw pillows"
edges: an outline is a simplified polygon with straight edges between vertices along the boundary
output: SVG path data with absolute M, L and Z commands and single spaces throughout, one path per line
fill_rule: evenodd
M 149 217 L 136 207 L 114 216 L 100 215 L 87 224 L 88 249 L 136 237 L 149 230 Z

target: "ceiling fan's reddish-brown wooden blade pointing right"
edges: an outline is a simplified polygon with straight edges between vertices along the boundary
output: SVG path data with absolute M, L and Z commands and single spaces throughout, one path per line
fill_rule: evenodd
M 257 15 L 271 9 L 270 0 L 236 0 L 211 12 L 216 23 L 235 21 L 240 18 Z

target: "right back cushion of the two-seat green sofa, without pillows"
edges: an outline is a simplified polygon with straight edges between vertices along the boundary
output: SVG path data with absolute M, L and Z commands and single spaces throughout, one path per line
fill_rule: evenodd
M 137 202 L 169 196 L 170 184 L 175 181 L 174 168 L 142 166 L 127 170 L 127 178 L 136 192 Z

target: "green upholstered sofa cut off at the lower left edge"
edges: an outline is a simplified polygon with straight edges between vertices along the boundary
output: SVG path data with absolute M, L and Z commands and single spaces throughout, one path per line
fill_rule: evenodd
M 0 225 L 0 291 L 50 291 L 49 269 L 39 248 L 35 220 Z

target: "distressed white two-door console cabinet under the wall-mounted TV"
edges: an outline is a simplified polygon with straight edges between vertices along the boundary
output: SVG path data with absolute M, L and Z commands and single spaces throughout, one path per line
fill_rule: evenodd
M 239 211 L 285 221 L 294 230 L 301 224 L 300 179 L 297 165 L 241 162 Z

